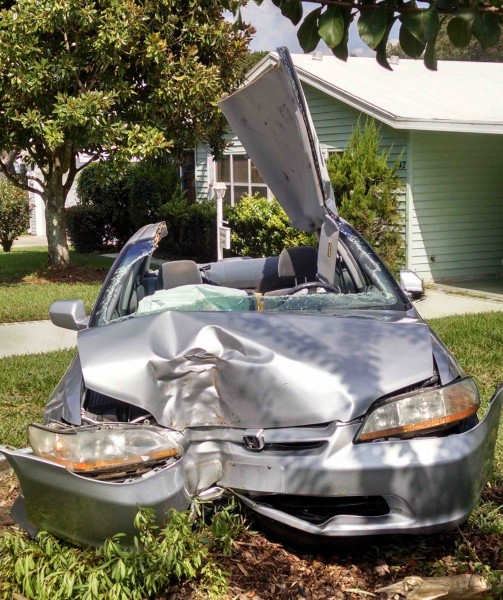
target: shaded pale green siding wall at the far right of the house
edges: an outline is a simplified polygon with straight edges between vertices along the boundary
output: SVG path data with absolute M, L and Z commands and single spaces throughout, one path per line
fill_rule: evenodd
M 425 280 L 503 273 L 503 136 L 410 133 L 408 265 Z

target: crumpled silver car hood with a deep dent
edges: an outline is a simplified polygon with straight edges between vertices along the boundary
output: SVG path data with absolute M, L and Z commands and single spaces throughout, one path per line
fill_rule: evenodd
M 176 430 L 347 422 L 433 375 L 427 325 L 400 315 L 168 311 L 84 330 L 78 346 L 88 388 Z

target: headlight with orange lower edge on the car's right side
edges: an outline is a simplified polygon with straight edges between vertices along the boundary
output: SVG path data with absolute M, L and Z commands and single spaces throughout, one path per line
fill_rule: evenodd
M 479 393 L 473 379 L 403 394 L 374 405 L 356 440 L 368 442 L 428 433 L 474 415 L 479 406 Z

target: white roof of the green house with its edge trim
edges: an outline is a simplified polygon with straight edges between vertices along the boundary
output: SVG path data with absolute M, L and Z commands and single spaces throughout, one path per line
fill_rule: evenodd
M 501 63 L 448 61 L 440 64 L 439 71 L 431 72 L 424 67 L 422 62 L 407 60 L 401 61 L 399 66 L 395 67 L 393 72 L 395 75 L 390 75 L 389 71 L 377 65 L 375 59 L 370 58 L 351 58 L 349 59 L 351 62 L 342 63 L 335 57 L 324 56 L 325 65 L 322 68 L 320 68 L 322 61 L 314 61 L 309 55 L 294 54 L 292 58 L 301 81 L 394 129 L 503 134 L 503 105 L 499 108 L 499 103 L 488 103 L 485 107 L 485 114 L 488 117 L 486 119 L 477 118 L 484 93 L 491 93 L 490 90 L 487 90 L 489 80 L 497 87 L 501 87 L 501 93 L 496 97 L 503 96 L 503 64 Z M 247 80 L 253 81 L 274 67 L 277 62 L 277 54 L 271 53 L 251 69 Z M 403 65 L 404 62 L 405 65 Z M 332 71 L 325 78 L 321 75 L 323 72 L 327 73 L 327 65 Z M 402 70 L 407 70 L 406 77 L 402 77 L 403 73 L 400 72 L 400 67 Z M 319 71 L 319 73 L 313 71 Z M 362 86 L 361 83 L 358 85 L 358 78 L 361 82 L 363 76 L 365 76 L 365 85 Z M 340 83 L 335 84 L 329 77 L 337 79 Z M 393 102 L 393 94 L 388 93 L 386 96 L 386 93 L 383 93 L 391 77 L 396 78 L 393 81 L 394 85 L 403 86 L 402 96 L 410 93 L 410 97 L 406 99 L 406 108 L 404 108 L 403 98 L 401 103 Z M 383 85 L 382 80 L 385 78 L 388 81 Z M 432 111 L 431 106 L 429 110 L 425 110 L 421 104 L 421 98 L 417 98 L 417 94 L 414 95 L 410 88 L 407 88 L 414 83 L 415 78 L 420 78 L 420 81 L 417 82 L 417 89 L 421 85 L 427 86 L 428 89 L 425 90 L 425 93 L 429 94 L 431 98 L 440 97 L 444 101 L 443 106 L 439 108 L 439 113 L 441 114 L 443 111 L 443 115 L 439 118 L 432 116 L 434 109 Z M 353 85 L 354 81 L 356 85 Z M 372 93 L 373 83 L 379 83 L 380 94 Z M 354 89 L 359 91 L 358 95 L 353 91 Z M 493 93 L 497 91 L 499 90 L 492 90 Z M 449 96 L 452 97 L 449 98 Z M 379 99 L 380 103 L 378 103 Z M 450 101 L 456 102 L 458 114 L 455 118 L 446 117 Z M 407 114 L 399 114 L 398 111 L 392 110 L 397 107 Z

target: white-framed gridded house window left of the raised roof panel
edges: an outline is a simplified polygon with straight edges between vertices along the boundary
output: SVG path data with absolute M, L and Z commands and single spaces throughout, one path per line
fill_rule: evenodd
M 267 185 L 246 154 L 228 154 L 216 164 L 216 180 L 227 186 L 224 200 L 234 206 L 243 196 L 268 197 Z

